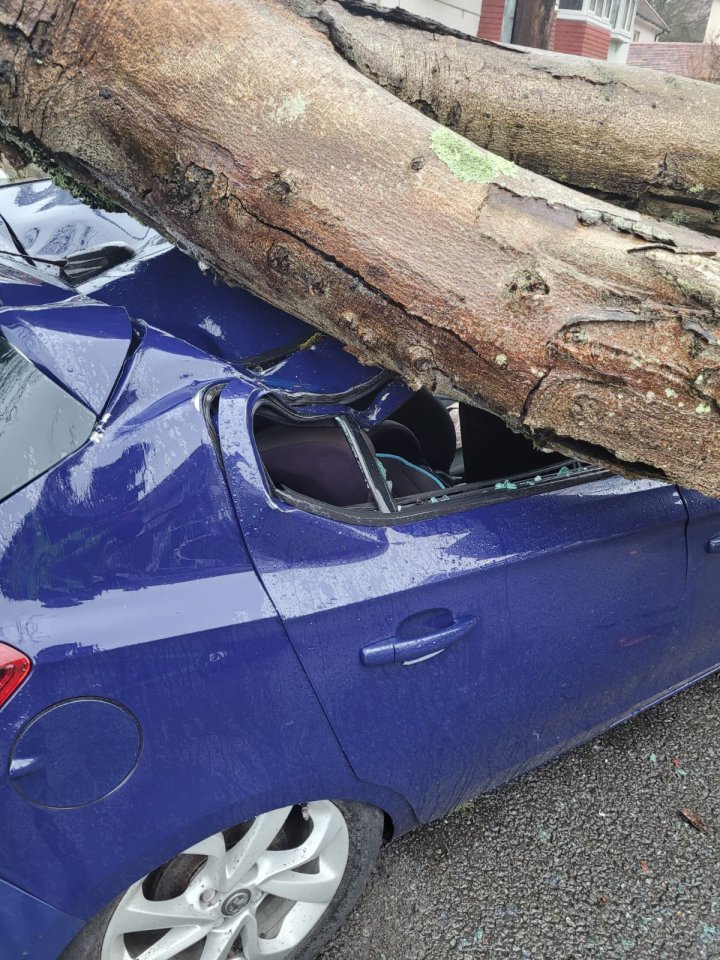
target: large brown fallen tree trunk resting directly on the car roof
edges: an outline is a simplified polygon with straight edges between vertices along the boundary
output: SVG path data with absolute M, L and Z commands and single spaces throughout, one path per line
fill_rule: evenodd
M 221 276 L 543 444 L 720 494 L 720 242 L 408 108 L 274 0 L 4 0 L 0 119 Z

